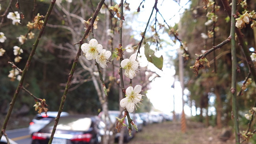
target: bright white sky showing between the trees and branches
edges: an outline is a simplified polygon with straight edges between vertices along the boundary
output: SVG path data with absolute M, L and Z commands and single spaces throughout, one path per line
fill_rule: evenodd
M 117 0 L 119 3 L 120 0 Z M 130 15 L 137 11 L 137 7 L 142 2 L 142 0 L 126 0 L 127 3 L 130 3 L 130 11 L 125 11 L 124 16 Z M 144 8 L 142 5 L 140 7 L 140 12 L 138 15 L 135 15 L 133 18 L 135 20 L 132 23 L 128 20 L 124 21 L 127 22 L 128 25 L 132 25 L 132 29 L 134 30 L 134 38 L 141 40 L 140 33 L 145 30 L 145 26 L 147 24 L 148 18 L 150 17 L 150 13 L 152 11 L 152 7 L 154 6 L 154 0 L 145 0 Z M 158 0 L 158 9 L 163 18 L 167 21 L 169 26 L 174 26 L 175 23 L 178 23 L 180 20 L 180 13 L 184 11 L 184 7 L 189 7 L 187 4 L 187 0 L 181 0 L 180 6 L 174 2 L 173 0 Z M 184 6 L 182 8 L 182 6 Z M 155 12 L 155 11 L 154 11 Z M 154 20 L 155 13 L 153 13 L 151 17 L 151 21 Z M 158 15 L 158 21 L 163 22 L 163 19 L 160 15 Z M 130 22 L 130 23 L 129 23 Z M 151 25 L 151 24 L 150 24 Z M 165 39 L 165 41 L 171 41 L 171 38 L 168 35 L 160 35 L 160 39 Z M 177 56 L 176 49 L 179 48 L 178 46 L 171 46 L 163 44 L 163 49 L 157 51 L 155 54 L 157 56 L 163 55 L 163 60 L 166 61 L 169 59 L 168 55 L 173 57 Z M 143 48 L 141 48 L 143 50 Z M 143 54 L 143 51 L 141 51 Z M 167 55 L 168 54 L 168 55 Z M 140 65 L 147 65 L 145 62 L 143 63 L 140 61 Z M 174 66 L 164 65 L 163 70 L 159 70 L 156 68 L 152 63 L 148 63 L 148 68 L 150 70 L 156 72 L 160 75 L 160 78 L 155 78 L 153 82 L 150 84 L 151 89 L 147 91 L 147 97 L 150 99 L 150 102 L 153 104 L 155 109 L 158 109 L 164 113 L 171 113 L 173 111 L 173 97 L 175 100 L 175 112 L 181 113 L 182 112 L 182 89 L 180 86 L 179 81 L 174 81 L 174 76 L 178 75 L 175 73 Z M 174 83 L 174 89 L 171 88 L 171 85 Z M 190 114 L 190 110 L 188 107 L 185 107 L 185 113 Z

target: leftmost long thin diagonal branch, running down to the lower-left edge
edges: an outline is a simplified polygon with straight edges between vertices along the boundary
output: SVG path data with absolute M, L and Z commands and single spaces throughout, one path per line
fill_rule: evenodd
M 1 130 L 1 132 L 0 132 L 0 137 L 2 137 L 3 131 L 5 131 L 5 129 L 6 129 L 7 123 L 8 123 L 8 121 L 9 121 L 10 116 L 11 116 L 11 112 L 13 111 L 14 104 L 15 104 L 15 102 L 16 102 L 16 99 L 17 99 L 17 97 L 18 97 L 18 94 L 19 94 L 19 92 L 20 92 L 20 89 L 22 89 L 23 81 L 24 81 L 25 76 L 26 76 L 26 74 L 27 74 L 27 72 L 28 72 L 28 68 L 29 68 L 29 66 L 30 66 L 30 64 L 31 64 L 31 61 L 32 61 L 33 55 L 35 54 L 35 50 L 37 49 L 38 43 L 39 43 L 39 41 L 40 41 L 40 39 L 41 39 L 41 37 L 42 37 L 42 35 L 43 35 L 43 32 L 45 31 L 45 26 L 46 26 L 46 24 L 47 24 L 47 22 L 48 22 L 48 19 L 49 19 L 49 17 L 50 17 L 50 14 L 51 14 L 51 12 L 52 12 L 52 9 L 53 9 L 53 6 L 54 6 L 55 2 L 56 2 L 56 0 L 52 0 L 52 2 L 51 2 L 51 4 L 50 4 L 50 7 L 48 8 L 48 11 L 47 11 L 47 13 L 46 13 L 46 16 L 45 16 L 45 20 L 44 20 L 42 29 L 41 29 L 41 31 L 39 32 L 39 35 L 38 35 L 37 39 L 35 40 L 35 43 L 33 44 L 32 50 L 31 50 L 31 52 L 30 52 L 30 56 L 28 57 L 28 60 L 27 60 L 27 62 L 26 62 L 26 66 L 25 66 L 24 70 L 22 70 L 22 76 L 21 76 L 19 85 L 17 86 L 17 89 L 16 89 L 16 91 L 15 91 L 15 94 L 13 95 L 13 99 L 11 100 L 10 107 L 9 107 L 9 109 L 8 109 L 6 118 L 5 118 L 5 120 L 4 120 L 4 124 L 3 124 L 3 126 L 2 126 L 2 130 Z

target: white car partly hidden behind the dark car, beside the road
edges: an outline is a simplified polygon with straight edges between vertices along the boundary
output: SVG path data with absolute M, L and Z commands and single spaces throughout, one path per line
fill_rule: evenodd
M 35 115 L 32 122 L 30 122 L 28 129 L 29 134 L 32 135 L 33 133 L 39 131 L 42 129 L 46 124 L 48 124 L 50 121 L 54 120 L 57 117 L 58 111 L 48 111 L 47 114 L 41 113 Z M 68 116 L 69 113 L 67 112 L 61 112 L 60 116 Z

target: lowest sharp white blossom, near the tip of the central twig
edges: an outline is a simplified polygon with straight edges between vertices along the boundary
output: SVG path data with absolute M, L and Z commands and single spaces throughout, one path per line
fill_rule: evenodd
M 126 97 L 120 101 L 120 106 L 126 108 L 129 113 L 132 113 L 134 111 L 134 107 L 135 109 L 139 107 L 137 103 L 141 103 L 140 101 L 142 100 L 142 95 L 139 94 L 140 92 L 141 85 L 136 85 L 134 88 L 131 86 L 128 87 L 126 89 Z

